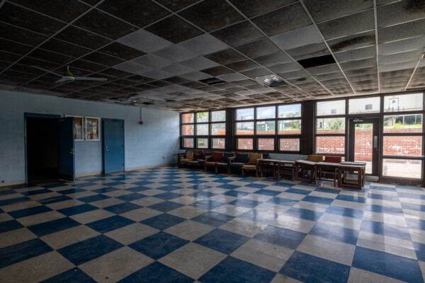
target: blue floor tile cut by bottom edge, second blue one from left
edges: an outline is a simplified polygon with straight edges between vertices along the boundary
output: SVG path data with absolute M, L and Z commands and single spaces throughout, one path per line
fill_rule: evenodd
M 180 272 L 163 265 L 160 262 L 153 262 L 147 267 L 132 273 L 128 277 L 118 281 L 118 283 L 192 283 L 193 279 Z

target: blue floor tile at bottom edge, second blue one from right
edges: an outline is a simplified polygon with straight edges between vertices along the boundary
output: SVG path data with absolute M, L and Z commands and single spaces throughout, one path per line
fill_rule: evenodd
M 347 282 L 350 267 L 295 251 L 279 273 L 301 282 L 336 283 Z

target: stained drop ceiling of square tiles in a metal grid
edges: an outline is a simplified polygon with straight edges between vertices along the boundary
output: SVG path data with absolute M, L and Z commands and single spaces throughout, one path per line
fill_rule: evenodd
M 425 88 L 424 1 L 0 3 L 1 89 L 181 112 Z M 31 67 L 68 65 L 108 81 Z

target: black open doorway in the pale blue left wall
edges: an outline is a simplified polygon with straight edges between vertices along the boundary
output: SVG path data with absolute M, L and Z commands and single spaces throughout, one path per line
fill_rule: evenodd
M 26 118 L 28 183 L 57 179 L 57 119 Z

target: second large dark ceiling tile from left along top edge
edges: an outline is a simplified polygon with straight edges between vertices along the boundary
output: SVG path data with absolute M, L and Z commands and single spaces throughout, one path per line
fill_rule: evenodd
M 140 28 L 170 14 L 150 0 L 106 0 L 98 8 Z

